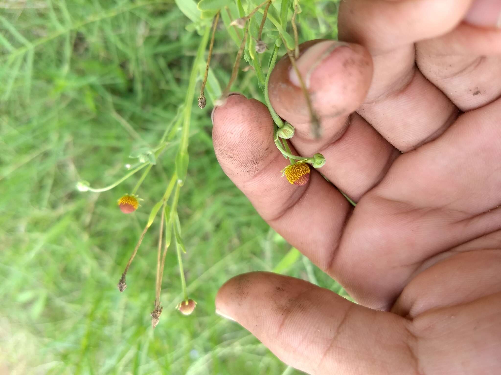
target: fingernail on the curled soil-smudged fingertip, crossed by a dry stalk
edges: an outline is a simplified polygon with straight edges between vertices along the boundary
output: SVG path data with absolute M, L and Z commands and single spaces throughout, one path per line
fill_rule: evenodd
M 298 66 L 298 70 L 304 79 L 306 88 L 310 88 L 310 76 L 312 72 L 322 63 L 322 61 L 329 57 L 337 47 L 342 45 L 348 44 L 342 41 L 324 40 L 312 45 L 301 53 L 296 61 L 296 65 Z M 296 73 L 296 69 L 292 66 L 289 71 L 289 79 L 293 84 L 301 87 L 301 82 L 298 74 Z

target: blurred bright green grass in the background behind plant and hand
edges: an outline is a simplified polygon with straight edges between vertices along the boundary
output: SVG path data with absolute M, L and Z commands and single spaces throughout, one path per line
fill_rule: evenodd
M 302 40 L 336 36 L 336 1 L 302 7 Z M 174 309 L 181 288 L 170 252 L 164 312 L 151 329 L 156 224 L 129 287 L 117 291 L 177 146 L 152 168 L 134 214 L 116 200 L 135 178 L 104 193 L 80 193 L 75 183 L 111 183 L 131 149 L 158 142 L 184 100 L 199 42 L 189 24 L 173 0 L 0 1 L 0 374 L 281 374 L 286 366 L 257 339 L 214 314 L 218 287 L 276 268 L 341 290 L 289 251 L 224 175 L 210 105 L 194 105 L 179 214 L 195 312 Z M 222 27 L 216 40 L 213 79 L 224 86 L 236 46 Z M 252 70 L 238 82 L 260 97 Z

